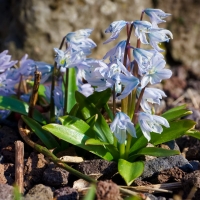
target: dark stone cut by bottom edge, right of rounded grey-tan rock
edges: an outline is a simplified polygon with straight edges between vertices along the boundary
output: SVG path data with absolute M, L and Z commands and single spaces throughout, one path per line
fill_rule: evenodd
M 63 187 L 54 191 L 54 197 L 56 200 L 78 200 L 78 192 L 70 187 Z

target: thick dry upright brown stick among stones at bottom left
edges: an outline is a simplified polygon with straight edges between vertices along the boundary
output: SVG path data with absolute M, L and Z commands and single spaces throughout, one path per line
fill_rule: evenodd
M 15 184 L 21 194 L 24 193 L 24 143 L 15 142 Z

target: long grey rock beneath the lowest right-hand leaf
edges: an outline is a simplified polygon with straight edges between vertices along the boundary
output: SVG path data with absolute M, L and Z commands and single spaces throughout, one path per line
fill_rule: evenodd
M 144 172 L 141 176 L 142 179 L 149 179 L 156 173 L 162 170 L 179 167 L 185 172 L 193 171 L 192 165 L 181 155 L 160 157 L 145 162 Z

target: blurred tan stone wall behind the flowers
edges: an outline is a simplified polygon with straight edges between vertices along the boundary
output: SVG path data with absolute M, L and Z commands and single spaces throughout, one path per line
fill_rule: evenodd
M 139 19 L 150 7 L 172 14 L 161 25 L 174 34 L 167 45 L 171 63 L 183 63 L 200 77 L 200 0 L 0 0 L 0 51 L 9 49 L 14 59 L 27 53 L 53 63 L 53 48 L 68 32 L 93 28 L 91 38 L 98 48 L 92 56 L 102 58 L 116 44 L 102 44 L 109 37 L 104 33 L 109 24 Z M 120 38 L 125 36 L 124 30 Z M 136 39 L 132 41 L 134 45 Z

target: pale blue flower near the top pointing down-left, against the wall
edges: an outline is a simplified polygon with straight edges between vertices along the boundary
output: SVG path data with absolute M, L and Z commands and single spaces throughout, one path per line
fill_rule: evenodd
M 104 44 L 115 40 L 118 38 L 120 31 L 126 26 L 128 22 L 120 20 L 120 21 L 114 21 L 110 24 L 110 26 L 105 30 L 105 33 L 112 33 L 110 38 L 104 42 Z

